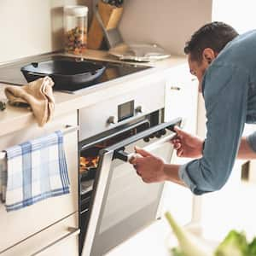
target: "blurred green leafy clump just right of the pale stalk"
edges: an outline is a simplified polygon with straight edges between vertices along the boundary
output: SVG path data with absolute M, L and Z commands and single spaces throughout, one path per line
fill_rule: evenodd
M 216 256 L 248 256 L 247 238 L 241 232 L 231 230 L 215 252 Z

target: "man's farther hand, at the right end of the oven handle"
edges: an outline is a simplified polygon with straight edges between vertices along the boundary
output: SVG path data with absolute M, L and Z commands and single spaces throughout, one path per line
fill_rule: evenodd
M 177 156 L 200 158 L 202 155 L 203 140 L 200 137 L 190 135 L 188 132 L 175 126 L 177 136 L 171 141 L 173 148 L 177 150 Z

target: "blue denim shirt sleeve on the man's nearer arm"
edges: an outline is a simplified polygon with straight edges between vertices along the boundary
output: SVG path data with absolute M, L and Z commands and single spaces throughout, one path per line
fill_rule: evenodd
M 203 88 L 207 110 L 203 156 L 179 169 L 179 177 L 195 195 L 221 189 L 230 177 L 246 120 L 247 73 L 213 65 Z

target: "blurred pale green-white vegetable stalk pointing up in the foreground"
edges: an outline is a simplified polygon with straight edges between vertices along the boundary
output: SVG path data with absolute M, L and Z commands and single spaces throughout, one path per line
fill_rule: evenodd
M 207 246 L 203 241 L 185 230 L 172 218 L 170 212 L 166 212 L 166 218 L 177 236 L 180 249 L 183 256 L 213 256 L 212 247 Z M 232 255 L 235 256 L 235 255 Z

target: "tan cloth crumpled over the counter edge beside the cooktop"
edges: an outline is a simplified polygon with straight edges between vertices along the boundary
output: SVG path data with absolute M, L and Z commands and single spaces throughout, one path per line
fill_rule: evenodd
M 26 103 L 32 108 L 39 126 L 49 122 L 55 109 L 55 98 L 52 86 L 54 82 L 49 77 L 37 79 L 23 86 L 7 86 L 4 90 L 9 103 Z

